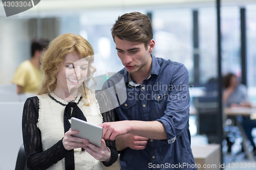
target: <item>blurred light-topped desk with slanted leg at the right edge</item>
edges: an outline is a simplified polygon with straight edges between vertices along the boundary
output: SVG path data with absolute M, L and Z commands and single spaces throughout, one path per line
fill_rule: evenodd
M 243 137 L 243 147 L 245 150 L 245 153 L 247 155 L 247 158 L 249 160 L 255 160 L 254 159 L 254 154 L 252 151 L 249 151 L 248 146 L 246 144 L 246 142 L 248 141 L 247 135 L 244 131 L 243 126 L 241 125 L 241 123 L 239 122 L 237 116 L 238 115 L 242 115 L 242 116 L 250 116 L 252 113 L 256 112 L 255 108 L 249 108 L 249 107 L 232 107 L 232 108 L 226 108 L 224 109 L 224 113 L 228 116 L 231 116 L 234 118 L 234 122 L 236 123 L 236 125 L 238 126 L 241 135 Z

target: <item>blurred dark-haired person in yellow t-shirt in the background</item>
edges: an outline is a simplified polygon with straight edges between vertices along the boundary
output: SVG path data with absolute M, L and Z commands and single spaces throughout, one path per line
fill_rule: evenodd
M 22 62 L 17 67 L 12 80 L 12 83 L 17 85 L 17 94 L 37 93 L 43 78 L 40 70 L 40 55 L 48 43 L 46 40 L 32 41 L 30 60 Z

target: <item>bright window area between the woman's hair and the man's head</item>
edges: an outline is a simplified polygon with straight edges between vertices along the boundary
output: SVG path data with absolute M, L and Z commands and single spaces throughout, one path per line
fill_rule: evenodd
M 83 13 L 80 15 L 80 34 L 92 44 L 95 54 L 100 54 L 106 72 L 117 72 L 123 68 L 111 28 L 122 11 Z

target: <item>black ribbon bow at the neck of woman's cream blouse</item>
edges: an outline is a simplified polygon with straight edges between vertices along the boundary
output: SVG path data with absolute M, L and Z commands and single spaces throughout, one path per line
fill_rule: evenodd
M 73 111 L 71 114 L 71 107 L 73 107 Z M 77 106 L 74 102 L 69 102 L 69 104 L 66 106 L 64 110 L 64 129 L 65 133 L 69 131 L 71 125 L 69 122 L 69 119 L 71 117 L 76 117 L 81 120 L 87 121 L 86 117 L 83 115 L 81 109 Z M 84 149 L 82 148 L 82 151 Z M 65 169 L 75 169 L 75 159 L 74 159 L 74 150 L 71 150 L 66 156 L 65 156 Z

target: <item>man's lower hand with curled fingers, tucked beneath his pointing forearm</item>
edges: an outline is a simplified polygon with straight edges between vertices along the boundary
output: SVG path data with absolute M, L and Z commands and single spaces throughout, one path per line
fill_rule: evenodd
M 125 135 L 117 136 L 116 138 L 116 148 L 117 151 L 124 150 L 129 147 L 133 150 L 143 150 L 146 148 L 148 138 L 141 137 L 137 135 L 133 135 L 131 133 L 127 133 Z

